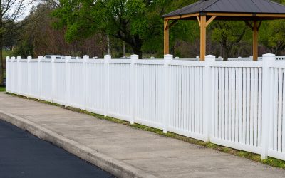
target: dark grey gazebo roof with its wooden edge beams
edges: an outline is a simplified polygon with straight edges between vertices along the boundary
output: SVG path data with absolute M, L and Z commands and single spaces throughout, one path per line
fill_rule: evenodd
M 281 17 L 284 18 L 282 15 L 285 15 L 285 6 L 268 0 L 201 0 L 162 17 L 165 19 L 191 19 L 202 14 L 219 14 L 219 19 L 227 20 L 239 20 L 238 16 L 251 17 L 249 20 L 281 19 Z M 225 18 L 226 16 L 227 18 Z

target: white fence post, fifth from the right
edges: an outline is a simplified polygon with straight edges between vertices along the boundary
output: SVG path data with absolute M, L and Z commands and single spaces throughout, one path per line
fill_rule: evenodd
M 104 102 L 104 116 L 108 115 L 109 108 L 109 61 L 111 60 L 110 55 L 104 56 L 104 76 L 105 76 L 105 102 Z

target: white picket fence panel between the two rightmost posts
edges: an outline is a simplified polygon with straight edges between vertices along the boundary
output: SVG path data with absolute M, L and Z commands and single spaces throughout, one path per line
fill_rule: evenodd
M 213 67 L 211 142 L 261 154 L 262 70 L 252 61 Z M 262 65 L 260 61 L 254 62 Z

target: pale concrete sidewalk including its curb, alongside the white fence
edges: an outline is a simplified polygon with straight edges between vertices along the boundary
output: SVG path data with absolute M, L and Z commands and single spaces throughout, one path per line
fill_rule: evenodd
M 4 93 L 0 117 L 118 177 L 285 177 L 282 169 Z

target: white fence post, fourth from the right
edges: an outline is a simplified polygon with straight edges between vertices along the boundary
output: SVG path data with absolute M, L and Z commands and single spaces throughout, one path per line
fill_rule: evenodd
M 130 56 L 131 63 L 130 63 L 130 124 L 135 123 L 135 110 L 137 107 L 137 80 L 136 78 L 136 70 L 135 70 L 135 63 L 138 61 L 138 55 L 133 54 Z

